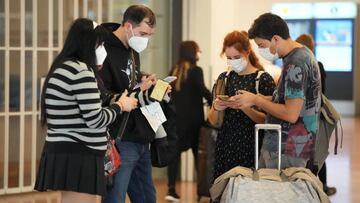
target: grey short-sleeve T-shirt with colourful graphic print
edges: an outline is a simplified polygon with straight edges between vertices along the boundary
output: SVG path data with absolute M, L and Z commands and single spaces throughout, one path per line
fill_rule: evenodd
M 295 48 L 283 58 L 283 70 L 273 94 L 273 102 L 285 104 L 287 99 L 304 100 L 300 116 L 289 123 L 268 114 L 267 123 L 282 127 L 282 152 L 292 157 L 308 159 L 313 151 L 313 140 L 319 127 L 321 106 L 321 79 L 318 63 L 305 47 Z M 277 136 L 267 131 L 263 149 L 277 151 Z

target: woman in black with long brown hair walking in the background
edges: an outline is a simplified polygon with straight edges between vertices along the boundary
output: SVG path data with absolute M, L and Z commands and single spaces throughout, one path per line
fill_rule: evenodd
M 175 190 L 179 173 L 181 152 L 192 149 L 195 162 L 198 152 L 200 127 L 204 123 L 203 98 L 210 106 L 212 96 L 204 84 L 201 67 L 197 66 L 200 48 L 194 41 L 180 44 L 179 60 L 172 68 L 170 75 L 176 76 L 173 83 L 172 99 L 176 107 L 176 128 L 179 137 L 178 154 L 168 166 L 168 201 L 180 201 Z

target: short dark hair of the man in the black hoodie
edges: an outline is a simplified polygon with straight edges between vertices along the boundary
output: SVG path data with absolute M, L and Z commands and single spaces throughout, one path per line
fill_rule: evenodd
M 144 5 L 132 5 L 126 9 L 122 24 L 129 22 L 135 26 L 138 26 L 145 18 L 149 21 L 146 22 L 150 27 L 155 27 L 156 18 L 154 12 Z

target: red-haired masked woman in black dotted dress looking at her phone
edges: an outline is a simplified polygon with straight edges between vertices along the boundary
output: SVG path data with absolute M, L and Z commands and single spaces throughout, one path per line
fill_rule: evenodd
M 225 111 L 215 146 L 214 180 L 235 166 L 254 167 L 254 125 L 264 123 L 265 114 L 252 107 L 238 106 L 235 97 L 237 92 L 247 90 L 270 96 L 275 89 L 271 75 L 266 72 L 259 73 L 264 69 L 252 50 L 245 31 L 227 34 L 221 54 L 226 56 L 231 72 L 225 86 L 225 95 L 229 98 L 217 97 L 208 116 L 209 122 L 215 124 L 219 111 Z M 226 74 L 227 72 L 222 73 L 219 78 L 224 78 Z

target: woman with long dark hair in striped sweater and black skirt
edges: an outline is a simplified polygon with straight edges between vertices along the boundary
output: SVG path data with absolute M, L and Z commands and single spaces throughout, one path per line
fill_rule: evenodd
M 137 106 L 125 92 L 102 107 L 96 72 L 106 57 L 105 33 L 89 19 L 75 20 L 42 89 L 47 135 L 35 190 L 62 191 L 62 202 L 95 202 L 104 194 L 106 128 Z

